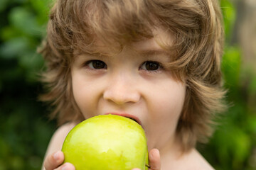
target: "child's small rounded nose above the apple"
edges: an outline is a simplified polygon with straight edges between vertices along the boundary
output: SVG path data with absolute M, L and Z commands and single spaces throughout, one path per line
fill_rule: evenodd
M 125 103 L 137 103 L 141 95 L 133 80 L 129 76 L 122 74 L 109 79 L 108 85 L 104 91 L 103 98 L 107 101 L 112 101 L 117 105 L 124 105 Z

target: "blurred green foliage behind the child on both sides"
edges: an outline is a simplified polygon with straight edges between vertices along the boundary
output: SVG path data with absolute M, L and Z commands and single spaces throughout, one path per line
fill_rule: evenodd
M 0 1 L 0 170 L 41 169 L 55 130 L 37 97 L 43 59 L 36 48 L 45 35 L 50 0 Z M 226 45 L 223 56 L 230 109 L 208 145 L 198 149 L 215 169 L 256 169 L 256 77 L 241 67 L 240 47 L 229 44 L 235 8 L 222 0 Z

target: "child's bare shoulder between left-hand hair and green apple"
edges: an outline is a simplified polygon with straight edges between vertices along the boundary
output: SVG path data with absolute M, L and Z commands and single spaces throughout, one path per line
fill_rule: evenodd
M 61 125 L 60 128 L 58 128 L 54 132 L 53 137 L 51 137 L 50 139 L 46 151 L 46 156 L 48 154 L 52 154 L 53 152 L 61 150 L 65 137 L 68 135 L 68 132 L 70 132 L 70 130 L 75 127 L 75 125 L 77 125 L 77 123 L 66 123 L 64 125 Z

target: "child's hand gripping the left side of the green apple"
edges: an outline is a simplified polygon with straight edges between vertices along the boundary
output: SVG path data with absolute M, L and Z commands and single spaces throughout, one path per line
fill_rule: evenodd
M 64 161 L 64 154 L 61 151 L 55 152 L 53 154 L 48 155 L 46 160 L 43 164 L 46 170 L 75 170 L 75 166 L 70 163 L 63 164 Z

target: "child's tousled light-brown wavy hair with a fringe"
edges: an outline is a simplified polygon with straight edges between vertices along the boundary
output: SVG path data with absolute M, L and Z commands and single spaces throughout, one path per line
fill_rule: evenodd
M 84 120 L 72 92 L 74 57 L 100 53 L 99 41 L 118 52 L 131 42 L 153 38 L 152 28 L 164 28 L 174 35 L 174 44 L 163 46 L 174 54 L 168 67 L 186 83 L 176 134 L 187 151 L 207 141 L 214 116 L 225 108 L 222 22 L 217 0 L 56 0 L 39 49 L 47 64 L 42 76 L 47 91 L 41 99 L 51 103 L 51 118 L 60 125 Z

